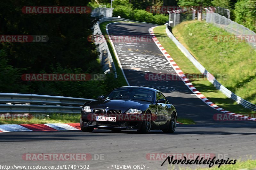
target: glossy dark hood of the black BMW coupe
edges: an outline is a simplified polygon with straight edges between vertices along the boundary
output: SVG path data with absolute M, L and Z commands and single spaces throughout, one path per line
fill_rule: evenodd
M 138 105 L 146 104 L 145 101 L 135 101 L 135 100 L 95 100 L 90 103 L 90 107 L 93 108 L 106 108 L 111 107 L 115 109 L 115 107 L 123 107 L 123 108 L 132 108 Z

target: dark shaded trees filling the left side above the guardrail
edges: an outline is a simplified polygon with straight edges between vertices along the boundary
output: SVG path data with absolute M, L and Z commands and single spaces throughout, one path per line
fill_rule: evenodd
M 86 0 L 3 0 L 0 35 L 48 35 L 44 43 L 0 43 L 0 92 L 95 98 L 115 81 L 22 81 L 25 73 L 102 73 L 96 46 L 87 40 L 90 14 L 23 14 L 23 6 L 87 6 Z M 108 77 L 112 80 L 111 75 Z

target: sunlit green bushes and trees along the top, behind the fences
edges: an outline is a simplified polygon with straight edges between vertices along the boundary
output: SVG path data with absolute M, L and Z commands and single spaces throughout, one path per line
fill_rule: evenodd
M 110 0 L 97 0 L 100 4 L 110 7 Z M 95 0 L 89 3 L 97 7 Z M 231 11 L 230 19 L 242 24 L 252 31 L 256 31 L 256 0 L 115 0 L 113 1 L 113 16 L 132 19 L 142 22 L 150 22 L 162 25 L 168 20 L 168 16 L 146 12 L 148 6 L 214 6 L 223 7 Z M 145 17 L 142 17 L 145 16 Z

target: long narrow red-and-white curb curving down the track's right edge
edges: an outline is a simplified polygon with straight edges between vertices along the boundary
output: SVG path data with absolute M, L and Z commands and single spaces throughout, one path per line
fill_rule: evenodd
M 157 40 L 157 38 L 154 34 L 154 28 L 155 27 L 156 26 L 148 29 L 149 34 L 152 35 L 152 39 L 156 43 L 157 47 L 163 53 L 166 60 L 172 65 L 173 69 L 178 74 L 178 76 L 181 78 L 181 80 L 191 90 L 191 92 L 193 92 L 199 99 L 203 100 L 205 104 L 207 104 L 208 106 L 210 106 L 210 107 L 212 107 L 212 108 L 214 108 L 214 109 L 216 109 L 220 112 L 223 112 L 223 113 L 228 114 L 228 115 L 233 115 L 233 116 L 236 116 L 236 117 L 239 117 L 239 118 L 243 118 L 245 120 L 256 121 L 256 118 L 252 118 L 252 117 L 249 117 L 249 116 L 244 116 L 244 115 L 239 115 L 239 114 L 236 114 L 236 113 L 232 113 L 232 112 L 229 112 L 229 111 L 227 111 L 227 110 L 225 110 L 221 107 L 218 107 L 216 104 L 214 104 L 210 100 L 208 100 L 202 93 L 200 93 L 196 89 L 196 87 L 194 87 L 194 85 L 189 81 L 189 79 L 185 76 L 185 74 L 182 72 L 182 70 L 180 69 L 178 64 L 175 63 L 173 58 L 167 53 L 167 51 L 164 49 L 164 47 L 161 45 L 161 43 Z

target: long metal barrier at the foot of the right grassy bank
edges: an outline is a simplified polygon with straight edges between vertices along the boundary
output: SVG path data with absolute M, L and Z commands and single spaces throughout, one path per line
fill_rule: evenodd
M 216 78 L 207 71 L 202 64 L 200 64 L 189 52 L 188 50 L 174 37 L 174 35 L 170 32 L 170 30 L 165 28 L 165 32 L 167 33 L 168 37 L 176 44 L 176 46 L 180 49 L 180 51 L 196 66 L 196 68 L 204 74 L 207 79 L 216 87 L 216 89 L 220 90 L 223 94 L 225 94 L 228 98 L 235 100 L 238 104 L 242 105 L 245 108 L 251 109 L 256 111 L 256 105 L 250 103 L 242 99 L 241 97 L 237 96 L 235 93 L 228 90 L 226 87 L 221 85 Z

